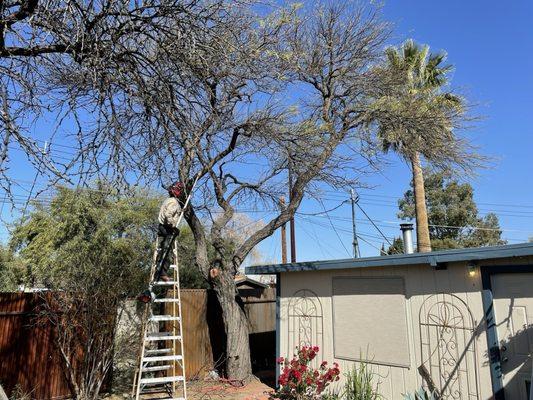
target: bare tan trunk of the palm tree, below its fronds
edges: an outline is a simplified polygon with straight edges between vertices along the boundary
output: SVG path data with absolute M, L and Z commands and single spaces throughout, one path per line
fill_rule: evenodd
M 416 240 L 418 252 L 427 253 L 431 251 L 431 241 L 429 239 L 424 174 L 420 163 L 420 155 L 418 153 L 415 153 L 411 158 L 411 165 L 413 168 L 413 190 L 415 194 Z

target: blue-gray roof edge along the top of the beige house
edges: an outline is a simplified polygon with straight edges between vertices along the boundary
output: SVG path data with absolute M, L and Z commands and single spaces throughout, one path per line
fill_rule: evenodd
M 306 261 L 292 264 L 256 265 L 247 267 L 246 273 L 275 274 L 278 272 L 390 267 L 415 264 L 436 266 L 449 262 L 483 261 L 524 256 L 533 256 L 533 243 L 442 250 L 431 253 L 394 254 L 390 256 L 347 258 L 342 260 Z

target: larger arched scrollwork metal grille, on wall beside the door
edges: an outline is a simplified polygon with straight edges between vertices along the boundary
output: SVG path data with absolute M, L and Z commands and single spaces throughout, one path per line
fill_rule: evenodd
M 479 399 L 476 324 L 453 294 L 435 294 L 420 307 L 422 362 L 443 399 Z

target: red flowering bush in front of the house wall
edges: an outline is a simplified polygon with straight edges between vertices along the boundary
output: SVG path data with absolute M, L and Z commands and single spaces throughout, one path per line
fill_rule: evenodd
M 328 363 L 322 361 L 318 369 L 310 367 L 318 351 L 318 346 L 303 346 L 298 349 L 292 360 L 278 359 L 278 364 L 282 366 L 278 380 L 279 388 L 270 395 L 270 398 L 316 399 L 321 397 L 321 393 L 331 382 L 338 381 L 340 370 L 337 363 L 328 368 Z

